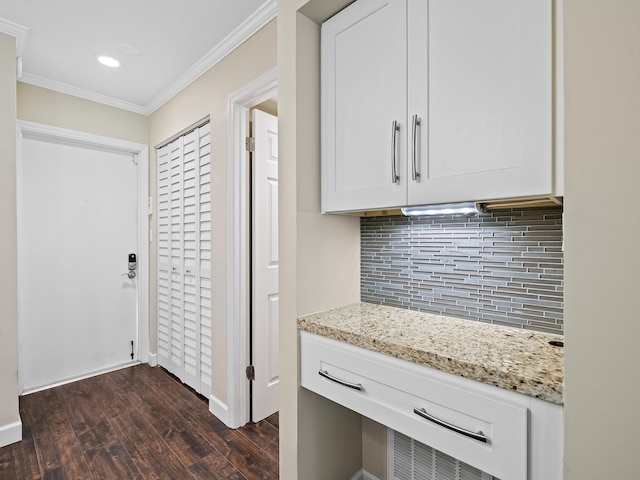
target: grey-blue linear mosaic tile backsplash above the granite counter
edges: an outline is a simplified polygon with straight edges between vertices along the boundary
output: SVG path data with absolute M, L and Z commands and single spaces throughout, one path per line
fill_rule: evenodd
M 563 333 L 562 208 L 364 217 L 363 302 Z

